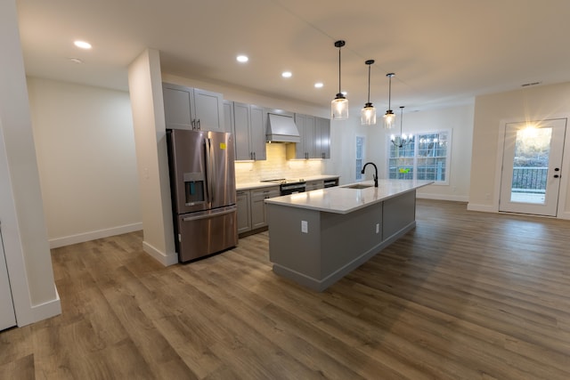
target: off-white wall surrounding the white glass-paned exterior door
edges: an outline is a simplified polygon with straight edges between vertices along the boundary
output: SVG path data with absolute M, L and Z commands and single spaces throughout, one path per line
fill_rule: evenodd
M 499 207 L 501 124 L 505 121 L 536 121 L 570 118 L 570 83 L 528 87 L 509 93 L 478 96 L 475 102 L 473 155 L 468 208 L 496 212 Z M 566 127 L 565 164 L 560 185 L 558 217 L 570 219 L 570 125 Z

